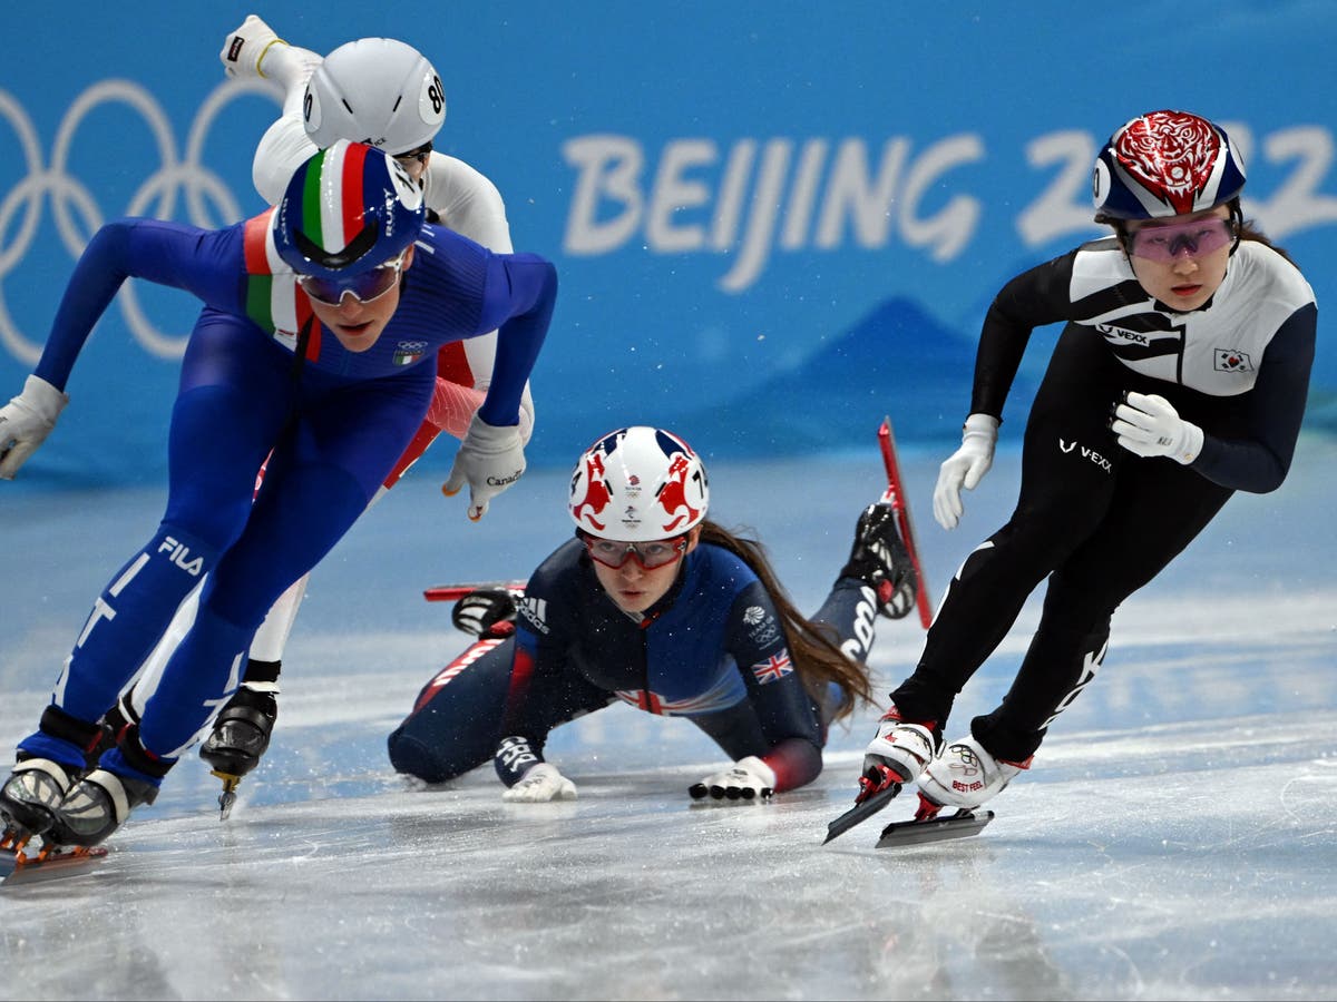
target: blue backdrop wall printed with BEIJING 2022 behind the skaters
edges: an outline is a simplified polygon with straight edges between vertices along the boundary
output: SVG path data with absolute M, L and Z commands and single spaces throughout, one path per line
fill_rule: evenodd
M 1099 232 L 1096 144 L 1140 111 L 1223 123 L 1246 156 L 1246 212 L 1302 265 L 1321 315 L 1337 283 L 1326 0 L 1191 17 L 1140 0 L 127 9 L 7 9 L 25 28 L 0 67 L 0 398 L 100 222 L 222 226 L 263 208 L 250 159 L 277 99 L 226 83 L 217 55 L 251 11 L 309 48 L 393 35 L 436 64 L 439 147 L 497 183 L 516 247 L 562 275 L 533 379 L 537 465 L 624 424 L 738 457 L 870 445 L 890 413 L 902 441 L 949 448 L 989 299 Z M 131 283 L 21 478 L 159 481 L 194 313 Z M 1005 437 L 1055 333 L 1036 333 Z M 1321 341 L 1314 429 L 1337 426 Z

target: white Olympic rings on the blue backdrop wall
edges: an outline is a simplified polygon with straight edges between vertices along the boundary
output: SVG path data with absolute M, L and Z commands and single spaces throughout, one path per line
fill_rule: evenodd
M 51 202 L 60 242 L 74 261 L 78 261 L 92 234 L 107 222 L 95 192 L 68 171 L 71 147 L 79 126 L 99 107 L 119 104 L 138 112 L 152 135 L 160 166 L 134 192 L 126 210 L 112 218 L 152 215 L 158 219 L 171 219 L 178 212 L 178 198 L 180 198 L 187 222 L 205 228 L 218 228 L 239 220 L 242 208 L 231 187 L 203 162 L 205 139 L 229 103 L 251 94 L 271 99 L 275 96 L 270 84 L 263 80 L 225 80 L 218 84 L 199 106 L 186 136 L 185 156 L 178 159 L 171 120 L 158 99 L 131 80 L 99 80 L 79 95 L 66 111 L 56 128 L 48 166 L 41 160 L 37 130 L 25 108 L 12 94 L 0 90 L 0 120 L 8 123 L 13 131 L 17 139 L 16 147 L 21 151 L 27 168 L 27 176 L 0 200 L 0 343 L 13 357 L 33 365 L 41 355 L 45 341 L 45 331 L 32 338 L 19 330 L 9 311 L 5 287 L 7 282 L 12 281 L 11 275 L 32 250 L 47 200 Z M 210 203 L 217 207 L 218 215 L 209 211 Z M 159 331 L 140 307 L 132 282 L 122 286 L 116 303 L 130 333 L 144 349 L 159 358 L 180 358 L 186 350 L 189 333 Z

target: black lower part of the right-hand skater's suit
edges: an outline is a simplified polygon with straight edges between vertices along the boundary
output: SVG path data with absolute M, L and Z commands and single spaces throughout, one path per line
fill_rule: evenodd
M 1234 493 L 1174 460 L 1122 449 L 1108 429 L 1124 390 L 1157 393 L 1217 434 L 1238 421 L 1229 398 L 1148 379 L 1091 327 L 1068 325 L 1031 407 L 1021 490 L 1007 525 L 961 565 L 915 673 L 892 693 L 905 719 L 945 724 L 965 683 L 1050 576 L 1040 625 L 1012 688 L 972 721 L 996 758 L 1023 762 L 1090 681 L 1119 604 L 1154 578 Z

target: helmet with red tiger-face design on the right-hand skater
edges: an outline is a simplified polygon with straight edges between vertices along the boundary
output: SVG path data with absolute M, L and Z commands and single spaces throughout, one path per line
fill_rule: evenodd
M 1226 130 L 1187 111 L 1126 122 L 1095 162 L 1096 222 L 1189 215 L 1229 204 L 1245 164 Z

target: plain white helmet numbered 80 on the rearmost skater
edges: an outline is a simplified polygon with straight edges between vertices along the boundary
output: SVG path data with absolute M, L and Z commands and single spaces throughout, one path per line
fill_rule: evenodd
M 412 45 L 357 39 L 325 56 L 312 73 L 302 116 L 318 147 L 352 139 L 402 156 L 431 143 L 441 128 L 445 91 Z

